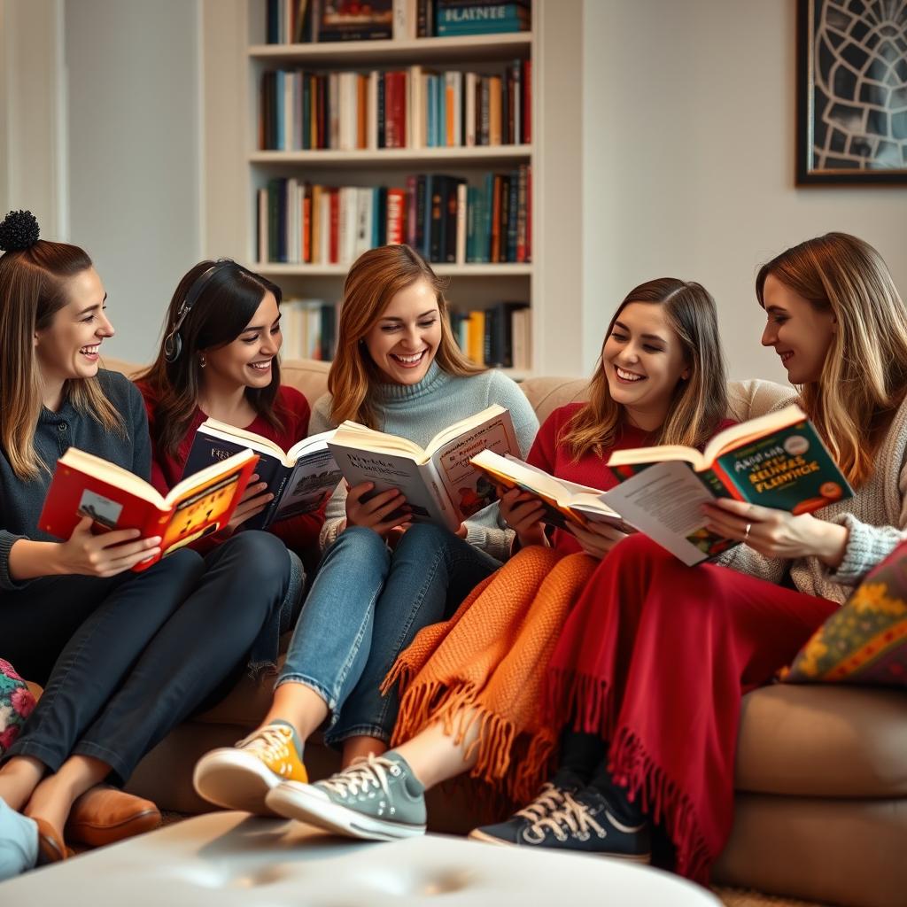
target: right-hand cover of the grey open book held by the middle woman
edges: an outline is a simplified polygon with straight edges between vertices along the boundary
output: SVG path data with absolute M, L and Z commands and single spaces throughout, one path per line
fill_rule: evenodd
M 499 456 L 520 453 L 511 414 L 501 406 L 494 408 L 496 414 L 443 444 L 432 455 L 434 471 L 460 522 L 497 502 L 493 483 L 470 463 L 473 456 L 483 450 L 490 450 Z

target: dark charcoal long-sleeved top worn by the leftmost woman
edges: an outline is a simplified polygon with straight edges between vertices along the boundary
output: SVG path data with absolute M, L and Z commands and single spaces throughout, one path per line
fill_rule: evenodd
M 0 590 L 24 589 L 36 580 L 16 581 L 9 575 L 9 552 L 15 541 L 60 541 L 38 529 L 38 517 L 50 487 L 57 460 L 71 447 L 103 457 L 141 476 L 151 478 L 151 443 L 141 394 L 119 372 L 98 372 L 103 394 L 122 416 L 124 434 L 112 432 L 93 415 L 80 412 L 69 402 L 55 413 L 42 409 L 34 429 L 34 450 L 47 469 L 37 477 L 20 479 L 5 450 L 0 449 Z

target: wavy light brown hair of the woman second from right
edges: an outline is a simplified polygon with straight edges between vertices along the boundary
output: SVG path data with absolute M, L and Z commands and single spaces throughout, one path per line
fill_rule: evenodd
M 623 408 L 611 397 L 603 354 L 615 322 L 631 302 L 664 309 L 689 368 L 688 379 L 678 381 L 668 417 L 653 443 L 702 447 L 727 413 L 727 369 L 718 336 L 715 300 L 701 284 L 678 278 L 649 280 L 631 289 L 611 318 L 590 382 L 589 401 L 564 426 L 558 438 L 558 443 L 566 444 L 576 460 L 589 451 L 603 453 L 614 443 L 618 432 Z

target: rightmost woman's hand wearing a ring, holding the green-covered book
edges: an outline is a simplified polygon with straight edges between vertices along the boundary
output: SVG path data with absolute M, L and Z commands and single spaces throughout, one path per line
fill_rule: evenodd
M 795 560 L 812 556 L 829 567 L 837 567 L 844 560 L 847 527 L 817 520 L 812 513 L 795 516 L 730 498 L 706 504 L 703 511 L 712 532 L 745 541 L 766 558 Z

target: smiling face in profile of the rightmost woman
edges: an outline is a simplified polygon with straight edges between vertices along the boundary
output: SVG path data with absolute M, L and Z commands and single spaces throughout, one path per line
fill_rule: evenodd
M 774 274 L 766 276 L 762 296 L 767 317 L 763 346 L 773 346 L 781 356 L 791 384 L 818 381 L 837 331 L 834 312 L 816 308 Z

